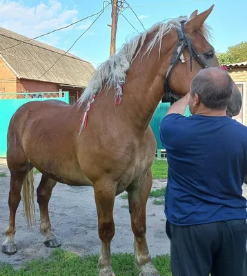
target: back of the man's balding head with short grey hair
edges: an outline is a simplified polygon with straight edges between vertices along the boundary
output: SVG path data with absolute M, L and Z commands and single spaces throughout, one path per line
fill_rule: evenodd
M 227 108 L 232 92 L 233 81 L 228 72 L 213 67 L 200 70 L 190 87 L 192 97 L 197 94 L 204 106 L 215 110 Z

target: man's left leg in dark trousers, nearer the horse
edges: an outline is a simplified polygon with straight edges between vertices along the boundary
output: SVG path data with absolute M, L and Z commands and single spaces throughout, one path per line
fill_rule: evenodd
M 208 276 L 213 254 L 219 248 L 220 230 L 217 223 L 175 226 L 170 230 L 170 262 L 172 276 Z

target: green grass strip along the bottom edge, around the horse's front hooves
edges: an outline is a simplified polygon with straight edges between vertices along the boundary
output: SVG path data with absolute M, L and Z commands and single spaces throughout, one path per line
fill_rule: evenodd
M 98 255 L 81 258 L 75 253 L 56 248 L 49 259 L 28 262 L 18 270 L 13 266 L 0 264 L 0 276 L 98 276 Z M 137 276 L 139 270 L 134 264 L 134 255 L 128 253 L 112 254 L 112 266 L 117 276 Z M 161 276 L 172 276 L 169 255 L 152 259 Z

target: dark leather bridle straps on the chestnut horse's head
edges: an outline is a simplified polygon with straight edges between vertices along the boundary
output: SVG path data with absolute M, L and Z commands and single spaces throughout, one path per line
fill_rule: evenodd
M 165 95 L 162 99 L 162 101 L 166 101 L 166 99 L 170 98 L 170 104 L 175 103 L 179 99 L 172 89 L 170 88 L 170 76 L 172 75 L 172 70 L 175 68 L 177 61 L 181 58 L 181 55 L 185 48 L 187 48 L 188 53 L 190 55 L 190 72 L 192 72 L 192 59 L 195 57 L 199 63 L 201 63 L 201 66 L 204 68 L 208 68 L 207 63 L 202 59 L 202 57 L 199 55 L 197 50 L 195 50 L 195 47 L 192 44 L 192 39 L 188 38 L 188 34 L 185 32 L 184 24 L 186 21 L 181 21 L 181 30 L 177 30 L 179 35 L 179 41 L 177 43 L 177 46 L 175 47 L 175 50 L 173 52 L 172 61 L 170 63 L 170 66 L 168 68 L 168 71 L 166 73 L 166 81 L 165 81 Z M 183 62 L 183 61 L 182 61 Z

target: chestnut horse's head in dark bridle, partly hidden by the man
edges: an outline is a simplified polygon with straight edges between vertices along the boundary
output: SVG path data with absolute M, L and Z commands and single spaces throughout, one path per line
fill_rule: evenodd
M 219 66 L 215 50 L 207 40 L 208 30 L 204 24 L 213 7 L 214 5 L 201 14 L 197 14 L 195 10 L 187 20 L 181 17 L 181 28 L 173 28 L 170 35 L 168 34 L 169 39 L 172 40 L 170 41 L 172 61 L 166 73 L 165 89 L 166 94 L 170 94 L 175 99 L 186 95 L 190 90 L 192 79 L 201 68 Z M 238 115 L 240 110 L 241 93 L 234 83 L 227 114 L 232 117 Z

